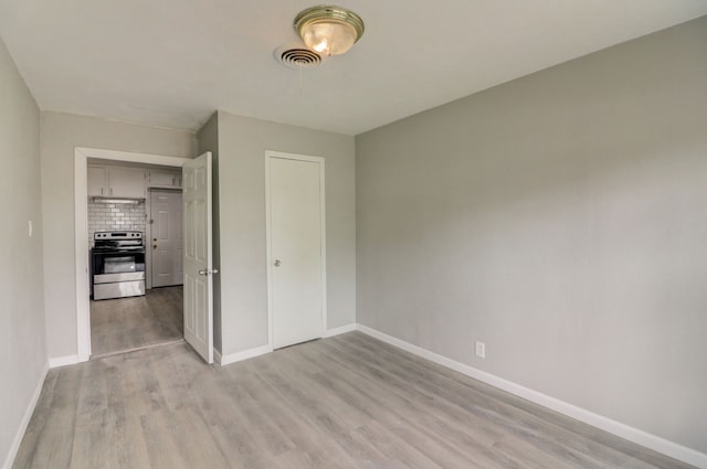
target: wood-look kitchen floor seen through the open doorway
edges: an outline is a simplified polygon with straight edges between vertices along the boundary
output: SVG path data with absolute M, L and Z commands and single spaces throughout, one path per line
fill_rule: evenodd
M 91 301 L 92 358 L 182 337 L 182 286 L 154 288 L 144 297 Z

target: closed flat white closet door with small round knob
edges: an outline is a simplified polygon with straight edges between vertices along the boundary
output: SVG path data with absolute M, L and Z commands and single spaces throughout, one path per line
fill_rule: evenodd
M 324 160 L 271 154 L 267 162 L 270 311 L 278 349 L 324 333 Z

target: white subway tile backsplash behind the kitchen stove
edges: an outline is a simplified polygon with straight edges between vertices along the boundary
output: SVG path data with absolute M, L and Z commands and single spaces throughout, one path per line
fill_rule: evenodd
M 93 247 L 95 232 L 110 232 L 116 230 L 143 232 L 147 215 L 145 202 L 137 205 L 130 203 L 96 203 L 88 201 L 88 245 Z

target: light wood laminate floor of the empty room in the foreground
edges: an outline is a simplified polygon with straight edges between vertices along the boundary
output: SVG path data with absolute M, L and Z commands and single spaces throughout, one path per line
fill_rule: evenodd
M 14 469 L 684 469 L 360 332 L 209 366 L 184 343 L 51 370 Z

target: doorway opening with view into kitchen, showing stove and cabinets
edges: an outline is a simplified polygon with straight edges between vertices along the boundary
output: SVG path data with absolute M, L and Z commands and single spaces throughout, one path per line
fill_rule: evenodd
M 181 170 L 87 160 L 92 358 L 183 340 Z

